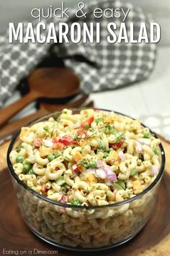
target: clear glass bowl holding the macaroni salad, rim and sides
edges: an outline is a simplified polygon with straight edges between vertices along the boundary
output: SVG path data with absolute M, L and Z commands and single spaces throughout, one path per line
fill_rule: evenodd
M 60 112 L 55 112 L 43 116 L 32 124 L 45 121 L 51 116 L 56 118 L 59 114 Z M 132 239 L 146 225 L 164 173 L 165 155 L 162 145 L 159 146 L 161 169 L 154 182 L 143 192 L 110 205 L 79 206 L 50 200 L 19 180 L 9 160 L 9 153 L 14 148 L 18 135 L 19 132 L 14 135 L 9 145 L 7 163 L 22 218 L 29 229 L 42 240 L 58 247 L 79 251 L 108 249 Z

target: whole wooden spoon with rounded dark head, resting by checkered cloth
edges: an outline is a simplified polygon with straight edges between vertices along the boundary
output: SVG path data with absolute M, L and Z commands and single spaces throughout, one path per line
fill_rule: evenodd
M 28 77 L 30 93 L 0 111 L 0 127 L 38 98 L 66 98 L 80 92 L 80 80 L 70 69 L 35 69 Z

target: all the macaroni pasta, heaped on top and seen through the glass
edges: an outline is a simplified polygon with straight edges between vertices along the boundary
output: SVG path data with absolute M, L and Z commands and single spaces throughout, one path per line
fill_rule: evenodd
M 140 121 L 113 111 L 73 114 L 64 109 L 57 119 L 23 127 L 9 155 L 15 174 L 35 192 L 65 206 L 22 191 L 17 193 L 22 216 L 35 231 L 71 247 L 102 247 L 127 239 L 148 220 L 156 189 L 125 205 L 112 204 L 133 198 L 156 179 L 159 144 Z

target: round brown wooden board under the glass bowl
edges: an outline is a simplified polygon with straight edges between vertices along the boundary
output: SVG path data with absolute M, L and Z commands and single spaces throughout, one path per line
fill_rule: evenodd
M 166 151 L 166 171 L 164 173 L 153 215 L 146 227 L 133 240 L 121 247 L 104 252 L 69 252 L 42 242 L 32 234 L 22 221 L 17 207 L 9 171 L 0 172 L 0 255 L 105 255 L 105 256 L 169 256 L 170 255 L 170 144 L 162 140 Z M 6 145 L 3 146 L 6 155 Z M 1 147 L 2 149 L 2 147 Z M 0 150 L 1 151 L 1 150 Z M 2 163 L 2 161 L 1 161 Z M 4 167 L 5 163 L 3 162 Z M 6 250 L 6 251 L 5 251 Z M 12 252 L 12 250 L 14 252 Z M 38 254 L 37 254 L 38 255 Z

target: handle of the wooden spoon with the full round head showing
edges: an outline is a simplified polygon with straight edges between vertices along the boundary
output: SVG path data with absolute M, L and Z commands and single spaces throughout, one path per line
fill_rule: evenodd
M 27 106 L 29 103 L 34 101 L 36 98 L 38 98 L 37 93 L 30 92 L 18 101 L 15 101 L 14 103 L 10 104 L 9 106 L 6 106 L 0 111 L 0 127 L 5 124 L 9 119 L 12 118 L 15 114 L 17 114 L 19 111 L 22 110 L 25 106 Z

